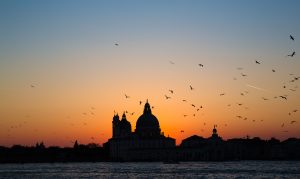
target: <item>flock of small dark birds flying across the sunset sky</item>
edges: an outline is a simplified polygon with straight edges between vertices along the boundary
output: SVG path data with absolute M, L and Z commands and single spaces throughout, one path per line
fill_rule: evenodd
M 289 38 L 290 38 L 291 41 L 295 41 L 295 38 L 294 38 L 292 35 L 290 35 Z M 119 43 L 114 43 L 114 45 L 115 45 L 115 47 L 119 47 L 119 46 L 120 46 Z M 294 58 L 295 55 L 296 55 L 296 52 L 295 52 L 295 51 L 292 51 L 290 54 L 287 54 L 286 57 Z M 170 65 L 176 65 L 176 63 L 175 63 L 174 61 L 171 61 L 171 60 L 169 60 L 169 64 L 170 64 Z M 263 61 L 262 61 L 262 60 L 255 59 L 255 60 L 254 60 L 254 64 L 256 64 L 256 65 L 263 65 Z M 197 66 L 198 66 L 198 68 L 200 68 L 200 69 L 205 68 L 205 65 L 203 65 L 202 63 L 198 63 Z M 243 70 L 244 70 L 244 67 L 237 67 L 236 69 L 239 71 L 239 74 L 240 74 L 240 76 L 241 76 L 242 78 L 248 77 L 248 74 L 246 74 L 246 73 L 243 71 Z M 272 71 L 272 73 L 276 73 L 276 72 L 277 72 L 277 70 L 275 70 L 275 69 L 271 69 L 271 71 Z M 283 84 L 282 88 L 283 88 L 283 89 L 286 89 L 286 90 L 288 90 L 288 91 L 290 91 L 290 92 L 296 92 L 298 86 L 297 86 L 297 85 L 294 85 L 293 87 L 291 87 L 290 84 L 294 84 L 294 83 L 298 82 L 300 76 L 296 76 L 295 74 L 290 73 L 290 74 L 289 74 L 289 77 L 290 77 L 290 80 L 289 80 L 288 82 L 285 82 L 285 83 Z M 233 78 L 233 80 L 237 80 L 237 79 L 238 79 L 237 77 L 234 77 L 234 78 Z M 256 87 L 256 86 L 253 86 L 253 85 L 250 85 L 250 84 L 246 84 L 246 86 L 251 87 L 251 88 L 255 88 L 255 89 L 257 89 L 257 90 L 264 90 L 264 89 L 262 89 L 262 88 L 259 88 L 259 87 Z M 38 84 L 30 84 L 29 87 L 30 87 L 31 89 L 34 90 L 34 89 L 38 88 L 39 86 L 38 86 Z M 188 91 L 190 91 L 190 92 L 196 91 L 196 89 L 192 86 L 192 84 L 188 85 L 186 88 L 187 88 Z M 175 93 L 176 93 L 176 90 L 175 90 L 175 89 L 168 89 L 168 90 L 167 90 L 167 93 L 163 94 L 162 96 L 163 96 L 163 98 L 164 98 L 165 100 L 167 100 L 167 101 L 175 100 L 175 97 L 174 97 L 174 94 L 175 94 Z M 226 92 L 220 92 L 220 93 L 219 93 L 219 96 L 220 96 L 220 97 L 223 97 L 223 96 L 226 96 L 226 95 L 227 95 Z M 247 95 L 249 95 L 249 91 L 247 91 L 247 90 L 240 92 L 240 96 L 247 96 Z M 126 100 L 130 100 L 130 99 L 131 99 L 131 96 L 128 95 L 127 93 L 124 94 L 124 97 L 125 97 Z M 288 95 L 287 95 L 287 94 L 280 94 L 280 95 L 274 96 L 273 98 L 274 98 L 274 99 L 281 99 L 281 100 L 283 100 L 283 101 L 288 101 Z M 204 105 L 203 105 L 203 104 L 198 104 L 198 105 L 197 105 L 197 104 L 195 104 L 195 103 L 190 103 L 190 102 L 189 102 L 187 99 L 185 99 L 185 98 L 181 98 L 181 99 L 179 99 L 179 100 L 180 100 L 182 103 L 188 104 L 188 105 L 192 108 L 192 110 L 194 111 L 194 112 L 191 113 L 191 114 L 187 114 L 187 113 L 182 114 L 182 117 L 183 117 L 183 118 L 187 118 L 187 117 L 189 117 L 189 116 L 192 116 L 193 118 L 195 118 L 195 117 L 197 116 L 197 114 L 198 114 L 200 111 L 202 111 L 202 110 L 204 109 Z M 271 100 L 271 98 L 267 98 L 267 97 L 262 96 L 262 97 L 261 97 L 261 100 L 263 100 L 263 101 L 269 101 L 269 100 Z M 139 105 L 142 105 L 142 104 L 143 104 L 143 101 L 142 101 L 142 100 L 139 100 L 139 101 L 138 101 L 138 104 L 139 104 Z M 227 104 L 227 107 L 232 107 L 233 105 L 236 105 L 236 106 L 238 106 L 238 107 L 243 107 L 245 110 L 248 110 L 248 109 L 249 109 L 243 102 L 230 103 L 230 104 Z M 152 106 L 151 108 L 154 109 L 154 106 Z M 82 112 L 82 116 L 95 116 L 95 115 L 96 115 L 95 109 L 96 109 L 96 108 L 93 107 L 93 106 L 90 107 L 90 109 L 89 109 L 88 111 Z M 290 117 L 291 117 L 291 116 L 294 116 L 297 112 L 298 112 L 298 109 L 293 109 L 293 110 L 291 110 L 291 111 L 288 112 L 288 116 L 290 116 Z M 130 114 L 131 116 L 133 116 L 133 115 L 136 114 L 134 111 L 129 112 L 128 110 L 126 110 L 125 113 L 126 113 L 126 114 Z M 30 117 L 31 117 L 31 116 L 30 116 L 29 114 L 25 116 L 25 118 L 30 118 Z M 70 116 L 67 116 L 67 118 L 70 118 Z M 237 118 L 237 119 L 239 119 L 239 120 L 243 120 L 243 121 L 246 121 L 246 120 L 249 120 L 249 121 L 250 121 L 250 118 L 249 118 L 248 116 L 235 115 L 235 118 Z M 252 122 L 256 122 L 257 120 L 251 119 L 251 121 L 252 121 Z M 260 120 L 260 122 L 263 122 L 263 120 Z M 282 122 L 281 125 L 280 125 L 280 127 L 281 127 L 281 128 L 285 128 L 285 127 L 287 126 L 287 124 L 295 125 L 295 124 L 297 124 L 297 123 L 298 123 L 297 120 L 290 119 L 289 121 L 284 121 L 284 122 Z M 87 126 L 87 124 L 88 124 L 87 121 L 82 122 L 82 126 Z M 18 123 L 18 124 L 13 124 L 13 125 L 11 125 L 11 126 L 7 129 L 7 132 L 8 132 L 7 137 L 11 137 L 11 132 L 12 132 L 13 130 L 22 128 L 22 127 L 24 127 L 24 126 L 26 126 L 26 125 L 28 125 L 27 120 L 24 120 L 24 121 L 22 121 L 22 122 L 20 122 L 20 123 Z M 74 123 L 70 123 L 70 126 L 74 126 L 74 125 L 75 125 Z M 203 126 L 205 126 L 205 125 L 206 125 L 206 122 L 203 122 Z M 228 124 L 226 123 L 226 124 L 224 124 L 224 126 L 227 127 Z M 204 131 L 203 128 L 201 128 L 200 130 L 201 130 L 202 132 Z M 37 132 L 38 129 L 34 129 L 34 131 Z M 179 131 L 179 133 L 184 133 L 185 131 L 186 131 L 186 129 L 185 129 L 185 130 L 184 130 L 184 129 L 181 129 L 181 130 Z M 286 133 L 286 132 L 288 132 L 288 130 L 283 129 L 282 132 L 285 132 L 285 133 Z M 94 137 L 94 136 L 91 136 L 90 139 L 91 139 L 92 141 L 94 141 L 94 140 L 95 140 L 95 137 Z

